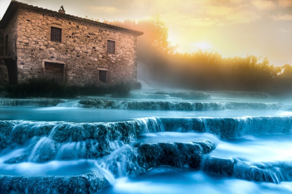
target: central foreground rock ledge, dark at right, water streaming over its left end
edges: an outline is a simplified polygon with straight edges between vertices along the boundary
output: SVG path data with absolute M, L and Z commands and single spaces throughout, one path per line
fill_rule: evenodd
M 140 174 L 151 168 L 170 166 L 199 168 L 203 154 L 215 149 L 211 140 L 201 142 L 135 143 L 99 160 L 115 177 Z

